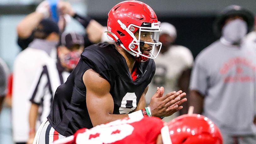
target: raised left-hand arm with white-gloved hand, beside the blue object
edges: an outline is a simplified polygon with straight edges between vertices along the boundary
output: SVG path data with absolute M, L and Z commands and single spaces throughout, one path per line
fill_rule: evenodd
M 32 31 L 39 25 L 39 22 L 49 15 L 48 1 L 43 1 L 38 5 L 36 11 L 27 15 L 17 25 L 17 33 L 20 39 L 26 39 Z

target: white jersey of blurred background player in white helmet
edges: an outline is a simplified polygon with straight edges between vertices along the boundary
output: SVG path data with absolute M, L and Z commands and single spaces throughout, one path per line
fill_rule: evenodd
M 147 104 L 155 94 L 157 87 L 164 86 L 165 94 L 171 91 L 178 91 L 177 80 L 183 70 L 192 66 L 193 56 L 187 47 L 173 45 L 164 54 L 159 53 L 154 61 L 156 72 L 146 94 Z

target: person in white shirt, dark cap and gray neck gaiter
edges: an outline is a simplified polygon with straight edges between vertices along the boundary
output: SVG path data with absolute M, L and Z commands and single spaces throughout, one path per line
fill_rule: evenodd
M 51 19 L 42 19 L 37 26 L 35 39 L 23 50 L 14 62 L 12 124 L 15 143 L 25 143 L 29 133 L 29 90 L 36 71 L 50 59 L 50 54 L 59 42 L 58 25 Z M 55 50 L 56 51 L 56 50 Z

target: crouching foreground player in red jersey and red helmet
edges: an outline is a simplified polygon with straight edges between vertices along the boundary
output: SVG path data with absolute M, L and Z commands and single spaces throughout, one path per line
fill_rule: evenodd
M 143 127 L 143 129 L 142 129 Z M 54 144 L 222 144 L 218 127 L 199 114 L 182 115 L 169 123 L 159 118 L 125 118 L 92 129 L 80 129 Z

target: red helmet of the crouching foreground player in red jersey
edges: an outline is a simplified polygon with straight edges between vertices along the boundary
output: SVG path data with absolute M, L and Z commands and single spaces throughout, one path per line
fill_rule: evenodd
M 184 114 L 161 129 L 164 144 L 222 144 L 219 128 L 200 114 Z

